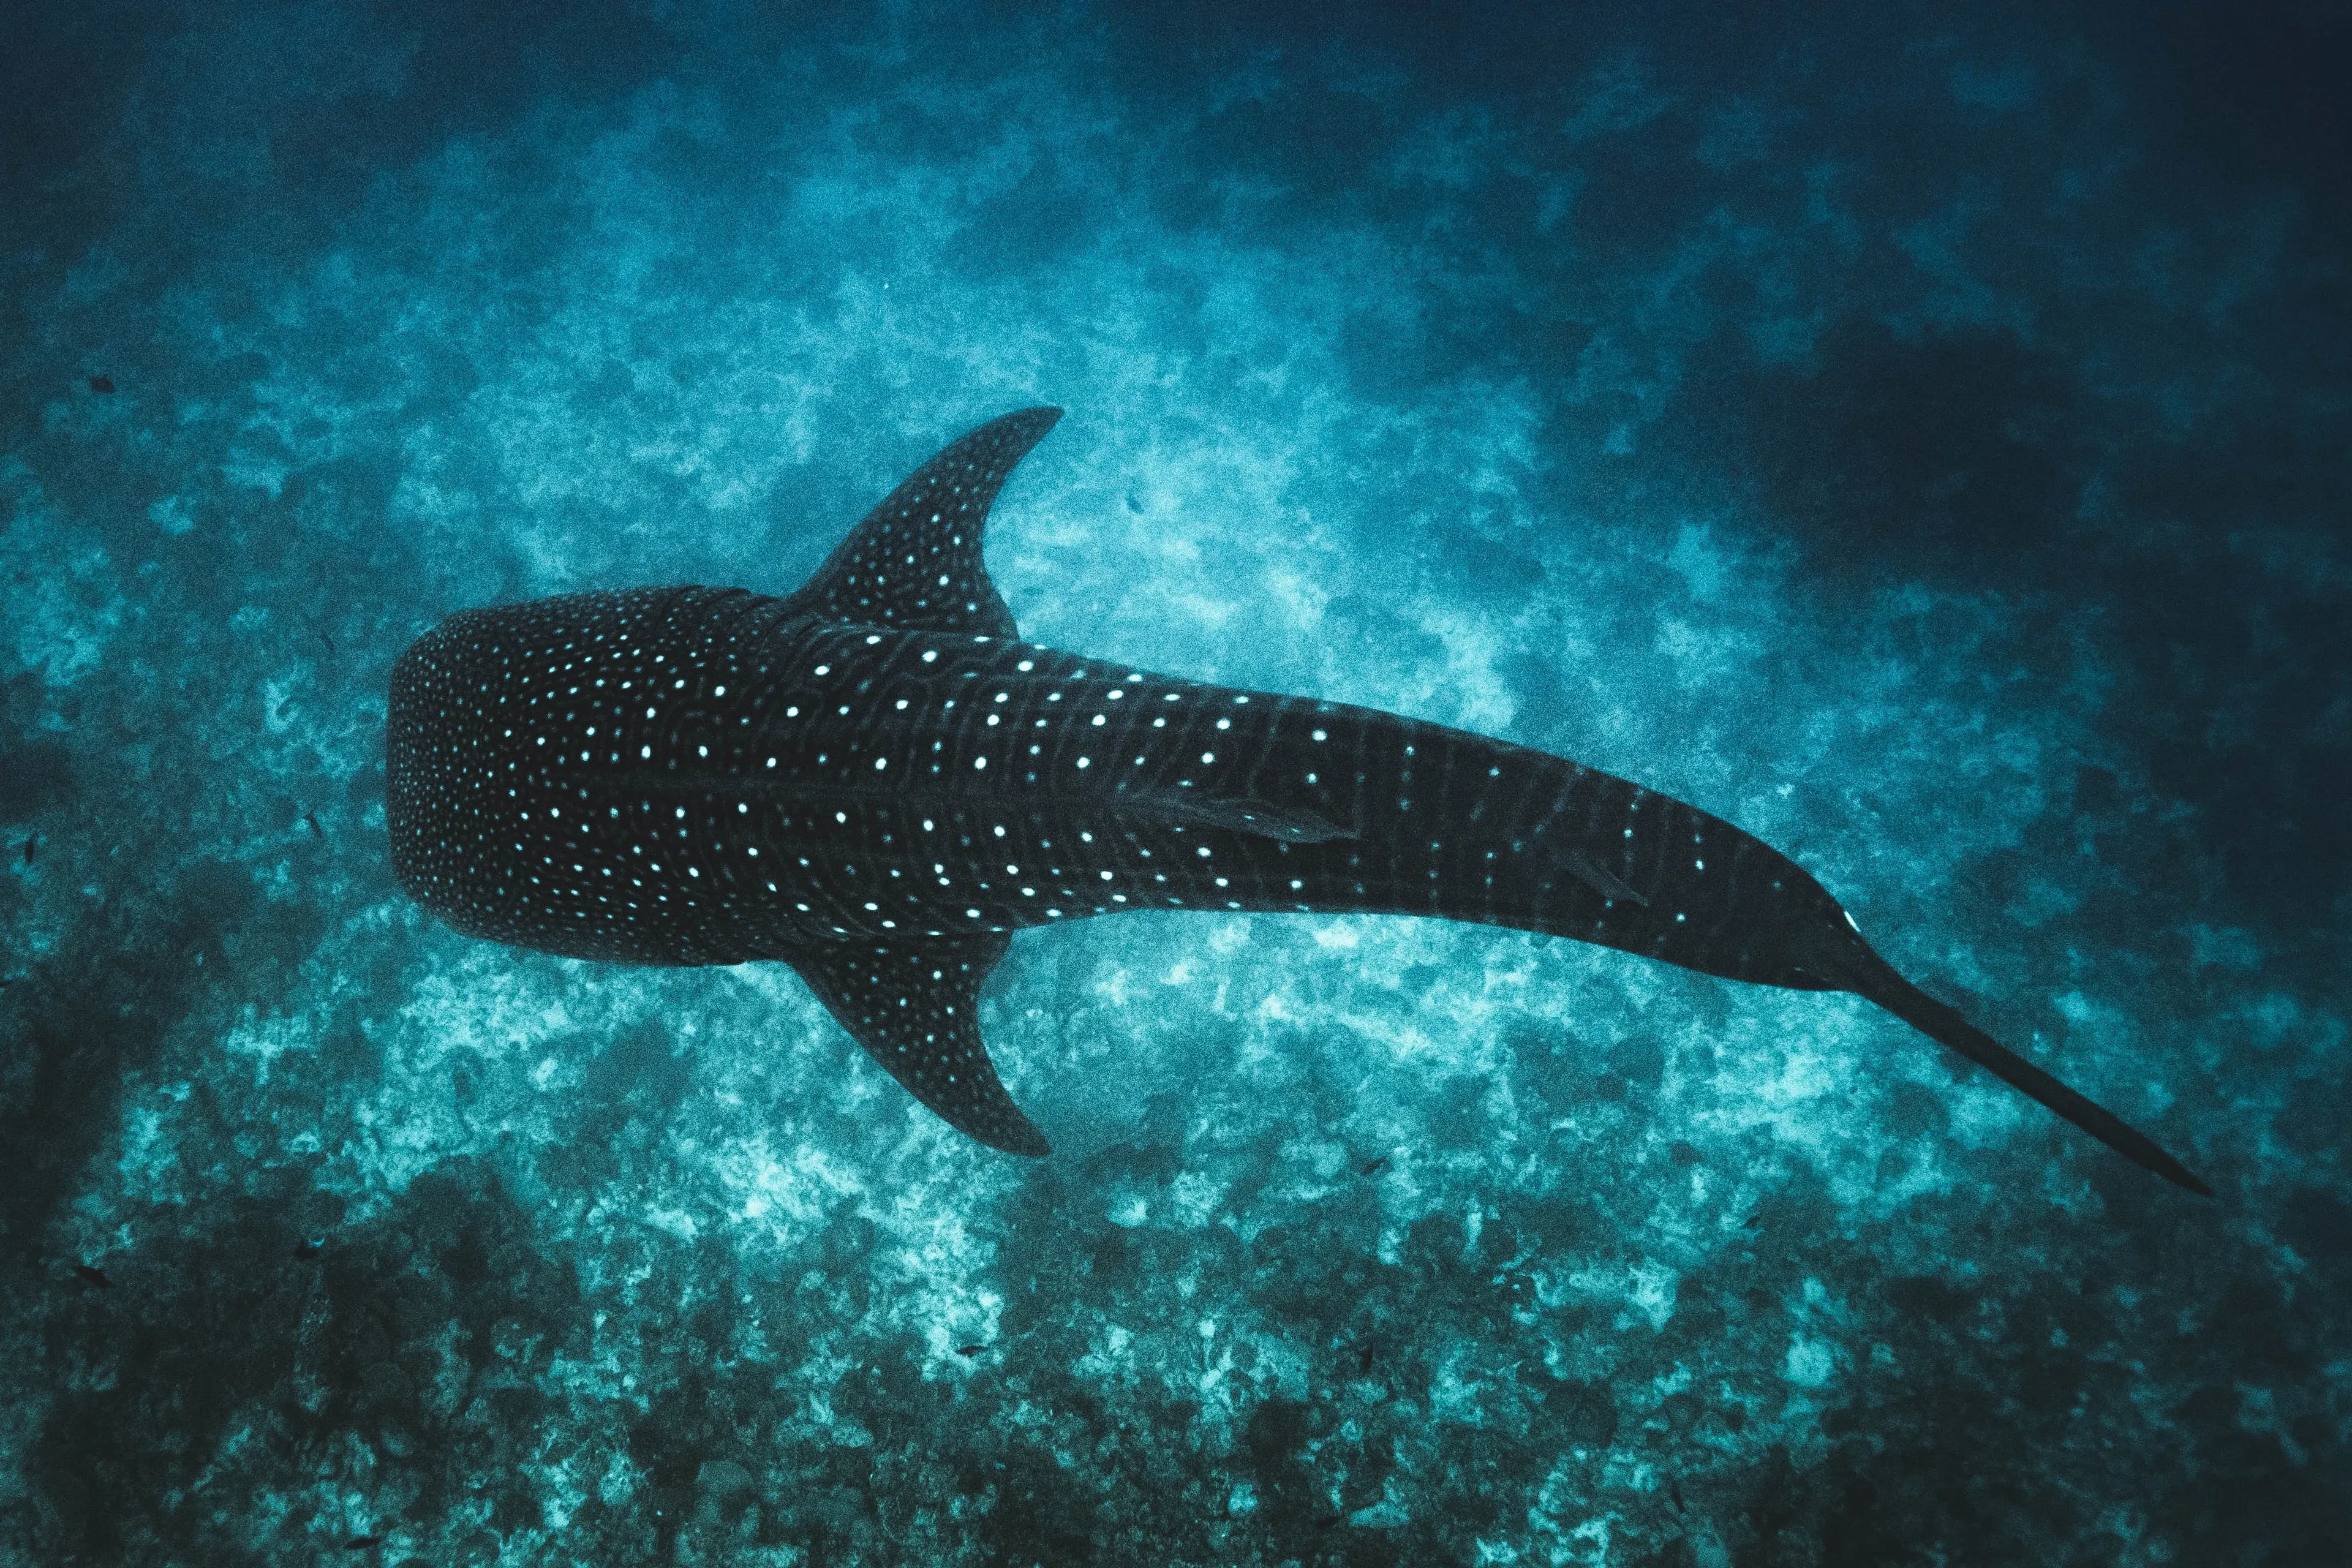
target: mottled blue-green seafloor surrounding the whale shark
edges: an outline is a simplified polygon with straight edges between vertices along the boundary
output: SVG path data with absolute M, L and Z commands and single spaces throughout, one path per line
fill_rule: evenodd
M 2347 1561 L 2352 21 L 1613 9 L 9 7 L 0 1556 Z M 426 625 L 1030 402 L 1028 637 L 1719 811 L 2218 1199 L 1409 919 L 1018 938 L 1028 1164 L 397 893 Z

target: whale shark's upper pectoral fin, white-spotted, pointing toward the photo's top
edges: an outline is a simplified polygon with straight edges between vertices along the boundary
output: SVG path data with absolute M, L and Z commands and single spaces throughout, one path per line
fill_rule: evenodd
M 795 616 L 929 632 L 1018 637 L 981 564 L 981 529 L 1004 477 L 1061 418 L 1021 409 L 990 418 L 908 475 L 786 599 Z

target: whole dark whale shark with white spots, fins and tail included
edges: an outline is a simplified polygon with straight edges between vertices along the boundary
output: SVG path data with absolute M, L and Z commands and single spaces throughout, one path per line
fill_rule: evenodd
M 2093 1138 L 2150 1138 L 1898 976 L 1795 860 L 1679 799 L 1369 708 L 1021 642 L 981 567 L 1007 414 L 793 597 L 586 592 L 452 616 L 393 670 L 402 886 L 583 959 L 781 959 L 915 1098 L 1014 1154 L 978 992 L 1014 931 L 1122 910 L 1437 914 L 1846 990 Z

